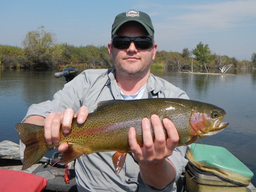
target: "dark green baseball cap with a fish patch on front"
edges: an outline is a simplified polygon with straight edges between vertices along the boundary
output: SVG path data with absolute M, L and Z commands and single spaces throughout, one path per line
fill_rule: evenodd
M 122 26 L 124 23 L 128 21 L 137 21 L 142 24 L 148 32 L 148 35 L 154 37 L 154 27 L 151 22 L 151 19 L 148 14 L 144 12 L 139 12 L 137 10 L 129 10 L 124 13 L 120 13 L 116 15 L 114 23 L 112 25 L 111 35 L 113 36 L 117 30 Z

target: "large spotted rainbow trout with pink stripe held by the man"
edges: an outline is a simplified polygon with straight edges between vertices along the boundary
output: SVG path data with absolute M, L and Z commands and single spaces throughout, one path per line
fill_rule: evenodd
M 143 146 L 141 121 L 157 114 L 161 121 L 170 119 L 179 134 L 178 145 L 189 145 L 201 138 L 222 131 L 228 122 L 221 122 L 225 111 L 215 105 L 187 99 L 138 99 L 111 100 L 99 102 L 98 108 L 90 113 L 84 124 L 73 119 L 71 132 L 60 131 L 60 142 L 67 142 L 69 148 L 62 155 L 60 163 L 67 164 L 80 157 L 103 151 L 117 151 L 113 164 L 118 173 L 130 151 L 128 130 L 134 127 L 137 142 Z M 18 123 L 16 129 L 20 140 L 26 145 L 22 169 L 36 163 L 55 144 L 48 145 L 44 139 L 44 126 Z M 165 134 L 166 130 L 164 129 Z M 152 137 L 154 138 L 151 126 Z M 166 134 L 167 138 L 167 134 Z

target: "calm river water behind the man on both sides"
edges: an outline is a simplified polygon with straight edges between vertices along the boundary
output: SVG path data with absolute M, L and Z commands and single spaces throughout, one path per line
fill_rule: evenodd
M 79 73 L 82 70 L 79 70 Z M 52 99 L 65 79 L 55 70 L 0 70 L 0 142 L 19 142 L 15 124 L 33 103 Z M 256 70 L 233 70 L 234 75 L 201 75 L 152 70 L 152 73 L 186 91 L 190 99 L 223 108 L 230 125 L 221 133 L 201 140 L 203 144 L 227 148 L 253 173 L 256 186 Z M 201 143 L 199 142 L 199 143 Z

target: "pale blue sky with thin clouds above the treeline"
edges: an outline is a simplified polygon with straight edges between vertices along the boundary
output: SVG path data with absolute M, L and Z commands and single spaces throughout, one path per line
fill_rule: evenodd
M 256 52 L 256 0 L 1 0 L 0 8 L 0 44 L 21 47 L 27 32 L 45 26 L 58 43 L 107 45 L 114 17 L 137 9 L 151 16 L 158 50 L 202 41 L 237 59 Z

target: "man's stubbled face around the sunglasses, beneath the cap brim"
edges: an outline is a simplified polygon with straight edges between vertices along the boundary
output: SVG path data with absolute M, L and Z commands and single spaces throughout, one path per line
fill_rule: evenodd
M 123 24 L 114 36 L 145 37 L 148 36 L 148 33 L 139 23 L 128 22 Z M 150 64 L 155 58 L 157 44 L 153 44 L 149 49 L 137 49 L 134 42 L 131 42 L 127 49 L 117 49 L 109 43 L 108 50 L 116 73 L 120 76 L 136 78 L 149 73 Z

